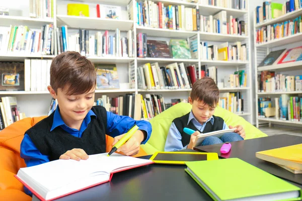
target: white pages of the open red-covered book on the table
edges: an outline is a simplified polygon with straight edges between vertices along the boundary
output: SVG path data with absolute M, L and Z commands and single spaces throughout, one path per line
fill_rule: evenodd
M 35 183 L 43 186 L 45 191 L 51 191 L 76 181 L 84 180 L 85 177 L 102 174 L 109 175 L 115 169 L 129 167 L 150 162 L 130 156 L 113 153 L 90 155 L 87 160 L 55 160 L 40 165 L 21 168 L 18 176 L 27 184 Z M 20 174 L 20 172 L 22 173 Z M 107 178 L 107 177 L 106 177 Z M 108 177 L 109 178 L 109 177 Z M 99 180 L 98 182 L 101 182 Z

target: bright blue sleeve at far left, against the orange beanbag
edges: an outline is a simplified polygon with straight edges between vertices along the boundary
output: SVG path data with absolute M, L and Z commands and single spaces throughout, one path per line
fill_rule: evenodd
M 20 156 L 24 159 L 27 167 L 49 162 L 48 156 L 41 154 L 27 134 L 24 135 L 21 142 Z M 24 191 L 26 194 L 32 195 L 32 192 L 25 186 Z

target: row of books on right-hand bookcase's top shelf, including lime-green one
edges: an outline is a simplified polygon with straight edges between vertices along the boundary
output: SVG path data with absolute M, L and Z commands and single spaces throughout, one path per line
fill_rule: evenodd
M 272 19 L 283 16 L 287 13 L 299 10 L 301 8 L 300 0 L 289 0 L 283 4 L 264 1 L 263 6 L 256 7 L 256 23 L 268 22 Z

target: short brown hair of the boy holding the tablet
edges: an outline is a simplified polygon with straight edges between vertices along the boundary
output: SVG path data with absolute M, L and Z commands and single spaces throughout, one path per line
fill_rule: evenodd
M 216 107 L 219 101 L 219 89 L 211 77 L 203 77 L 194 82 L 190 97 L 192 102 L 202 101 L 210 107 Z

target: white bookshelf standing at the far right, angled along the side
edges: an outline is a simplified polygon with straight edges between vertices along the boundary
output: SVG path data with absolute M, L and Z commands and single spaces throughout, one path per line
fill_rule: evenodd
M 263 26 L 272 25 L 275 23 L 281 23 L 290 19 L 294 19 L 298 16 L 302 16 L 302 9 L 287 13 L 283 16 L 278 18 L 272 19 L 270 21 L 256 24 L 256 12 L 254 12 L 254 36 L 256 36 L 256 29 L 259 29 Z M 291 36 L 274 39 L 269 42 L 264 42 L 257 44 L 256 37 L 254 37 L 254 59 L 255 59 L 255 113 L 256 113 L 256 126 L 259 127 L 259 124 L 268 123 L 271 124 L 282 124 L 288 126 L 302 126 L 302 122 L 294 122 L 294 121 L 285 121 L 279 120 L 274 117 L 271 118 L 260 118 L 258 117 L 258 97 L 279 97 L 281 94 L 292 94 L 298 95 L 302 94 L 302 91 L 266 91 L 266 92 L 259 92 L 258 91 L 258 73 L 264 70 L 283 72 L 285 74 L 292 73 L 291 71 L 295 72 L 296 70 L 302 69 L 302 61 L 297 62 L 289 62 L 283 64 L 275 64 L 275 65 L 268 65 L 268 66 L 261 66 L 257 67 L 260 62 L 269 54 L 272 50 L 277 49 L 284 49 L 284 48 L 293 48 L 300 46 L 300 42 L 302 41 L 302 33 L 294 34 Z M 292 75 L 292 74 L 290 74 Z M 294 75 L 294 74 L 293 74 Z M 272 99 L 273 103 L 273 99 Z

